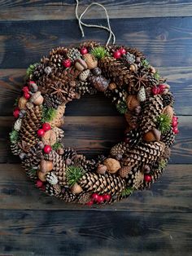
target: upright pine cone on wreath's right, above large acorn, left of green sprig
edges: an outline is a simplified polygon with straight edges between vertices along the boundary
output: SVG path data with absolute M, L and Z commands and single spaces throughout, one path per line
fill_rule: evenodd
M 155 95 L 145 101 L 142 107 L 140 129 L 142 134 L 146 134 L 152 128 L 155 128 L 156 117 L 163 111 L 163 102 L 160 95 Z

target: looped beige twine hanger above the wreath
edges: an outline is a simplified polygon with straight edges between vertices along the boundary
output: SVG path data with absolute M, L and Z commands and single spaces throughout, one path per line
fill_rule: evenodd
M 93 6 L 98 6 L 98 7 L 102 7 L 103 8 L 103 10 L 105 11 L 106 16 L 107 16 L 107 25 L 108 25 L 108 27 L 105 27 L 103 25 L 96 25 L 96 24 L 86 24 L 85 22 L 82 21 L 82 18 L 85 15 L 85 13 L 89 10 L 90 7 L 93 7 Z M 106 46 L 109 44 L 111 39 L 112 39 L 112 44 L 116 43 L 116 36 L 112 32 L 112 30 L 111 30 L 111 25 L 110 25 L 110 20 L 109 20 L 109 15 L 107 13 L 107 9 L 102 4 L 100 4 L 98 2 L 92 2 L 91 4 L 89 4 L 88 7 L 85 8 L 85 10 L 81 13 L 80 16 L 78 15 L 78 7 L 79 7 L 79 1 L 76 0 L 76 19 L 78 20 L 79 27 L 81 29 L 82 38 L 85 37 L 85 33 L 84 33 L 84 30 L 83 30 L 83 26 L 85 26 L 85 27 L 88 27 L 88 28 L 98 28 L 98 29 L 105 29 L 105 30 L 107 30 L 109 32 L 109 37 L 108 37 Z

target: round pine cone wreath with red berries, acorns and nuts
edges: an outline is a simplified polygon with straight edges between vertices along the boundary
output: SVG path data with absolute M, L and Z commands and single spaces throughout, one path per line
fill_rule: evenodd
M 87 159 L 64 146 L 66 105 L 102 91 L 126 119 L 124 141 Z M 13 115 L 11 150 L 37 188 L 66 202 L 120 201 L 162 174 L 178 133 L 170 86 L 142 52 L 84 42 L 31 64 Z

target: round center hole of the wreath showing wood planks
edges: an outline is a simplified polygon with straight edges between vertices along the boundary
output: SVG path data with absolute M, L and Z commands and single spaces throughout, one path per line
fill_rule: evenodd
M 64 147 L 75 148 L 88 158 L 107 154 L 122 141 L 125 121 L 102 93 L 85 95 L 66 106 Z

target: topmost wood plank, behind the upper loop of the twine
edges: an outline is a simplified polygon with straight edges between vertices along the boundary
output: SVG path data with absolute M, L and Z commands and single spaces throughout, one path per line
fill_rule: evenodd
M 80 1 L 79 13 L 85 10 L 89 1 Z M 192 4 L 189 1 L 99 1 L 108 11 L 110 18 L 143 18 L 190 16 Z M 75 19 L 75 1 L 6 1 L 0 2 L 1 20 L 68 20 Z M 93 15 L 94 14 L 94 15 Z M 93 7 L 86 18 L 105 17 L 101 9 Z

